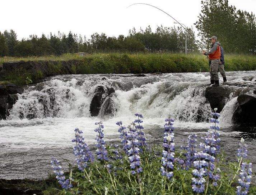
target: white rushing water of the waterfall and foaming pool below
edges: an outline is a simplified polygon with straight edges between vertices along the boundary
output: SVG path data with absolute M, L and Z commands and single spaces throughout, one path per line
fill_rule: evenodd
M 232 127 L 236 98 L 241 93 L 252 93 L 251 88 L 256 86 L 255 75 L 255 71 L 227 73 L 232 92 L 220 113 L 221 127 Z M 146 77 L 129 74 L 60 75 L 27 87 L 19 95 L 8 119 L 0 121 L 0 163 L 3 162 L 0 168 L 7 172 L 8 162 L 17 151 L 27 152 L 29 156 L 35 150 L 39 153 L 42 150 L 51 156 L 52 149 L 71 148 L 76 127 L 92 144 L 96 121 L 103 121 L 107 142 L 118 141 L 115 123 L 130 124 L 135 120 L 134 113 L 144 115 L 143 125 L 148 138 L 162 132 L 167 117 L 175 119 L 175 127 L 181 134 L 208 131 L 211 108 L 205 90 L 209 80 L 209 73 L 146 74 Z M 102 103 L 99 115 L 92 117 L 90 103 L 97 86 L 103 86 L 105 91 L 112 87 L 115 93 Z M 106 114 L 107 110 L 111 113 Z M 5 159 L 6 154 L 12 152 L 13 156 Z

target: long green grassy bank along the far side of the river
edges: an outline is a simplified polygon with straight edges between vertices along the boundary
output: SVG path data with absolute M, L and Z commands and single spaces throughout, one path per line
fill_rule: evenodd
M 0 82 L 3 83 L 11 81 L 16 84 L 23 85 L 30 82 L 28 79 L 33 83 L 36 83 L 46 76 L 64 74 L 59 62 L 68 60 L 79 60 L 79 63 L 71 64 L 69 71 L 70 74 L 136 74 L 209 71 L 208 59 L 201 54 L 95 53 L 89 54 L 85 57 L 80 57 L 75 54 L 64 54 L 58 57 L 4 57 L 0 58 L 0 66 L 8 62 L 49 61 L 49 65 L 47 65 L 47 67 L 50 69 L 51 74 L 45 74 L 40 68 L 33 73 L 29 71 L 26 72 L 24 69 L 17 69 L 11 72 L 5 71 L 4 74 L 2 73 L 0 75 Z M 53 63 L 52 61 L 55 61 L 56 63 Z M 226 54 L 224 68 L 226 71 L 256 70 L 256 56 Z

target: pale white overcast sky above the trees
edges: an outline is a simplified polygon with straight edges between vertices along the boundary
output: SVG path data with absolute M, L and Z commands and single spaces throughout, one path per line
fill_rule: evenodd
M 173 18 L 189 27 L 195 26 L 201 11 L 201 0 L 1 0 L 0 31 L 13 29 L 18 39 L 31 34 L 41 36 L 58 31 L 87 36 L 97 32 L 108 36 L 128 35 L 133 27 L 139 30 L 150 25 L 174 26 L 174 20 L 147 3 L 164 10 Z M 256 0 L 229 0 L 237 9 L 256 14 Z

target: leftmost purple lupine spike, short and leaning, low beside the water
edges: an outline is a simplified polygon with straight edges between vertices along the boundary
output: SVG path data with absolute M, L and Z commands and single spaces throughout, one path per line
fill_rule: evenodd
M 64 176 L 64 172 L 61 170 L 62 167 L 59 164 L 60 162 L 54 157 L 52 157 L 51 167 L 53 169 L 54 174 L 56 175 L 56 179 L 58 180 L 62 189 L 68 190 L 71 187 L 73 187 L 70 181 L 72 178 L 66 179 L 66 177 Z

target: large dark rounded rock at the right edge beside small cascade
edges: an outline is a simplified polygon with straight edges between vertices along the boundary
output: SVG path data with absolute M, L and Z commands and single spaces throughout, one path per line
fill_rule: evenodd
M 239 125 L 256 124 L 256 97 L 242 94 L 237 97 L 237 108 L 233 114 L 233 121 Z

